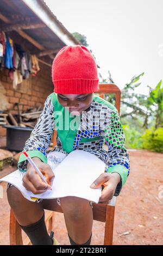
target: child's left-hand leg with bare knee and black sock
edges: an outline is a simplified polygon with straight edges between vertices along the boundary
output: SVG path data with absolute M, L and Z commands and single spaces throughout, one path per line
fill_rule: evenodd
M 48 235 L 43 207 L 40 203 L 30 202 L 24 198 L 16 187 L 7 190 L 8 201 L 17 222 L 28 235 L 33 245 L 52 245 Z

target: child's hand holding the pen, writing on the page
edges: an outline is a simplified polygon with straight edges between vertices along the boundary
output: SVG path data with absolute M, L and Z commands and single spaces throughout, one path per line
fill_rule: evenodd
M 48 184 L 40 178 L 34 167 L 28 163 L 27 172 L 23 177 L 23 186 L 34 194 L 41 194 L 46 190 L 51 189 L 54 173 L 52 172 L 51 167 L 48 164 L 43 163 L 38 157 L 33 157 L 32 160 L 35 162 L 41 173 L 46 176 Z

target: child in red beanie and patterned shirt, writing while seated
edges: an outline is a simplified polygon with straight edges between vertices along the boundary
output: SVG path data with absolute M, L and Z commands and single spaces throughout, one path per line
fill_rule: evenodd
M 72 150 L 86 150 L 104 161 L 105 172 L 92 180 L 90 186 L 103 186 L 99 202 L 107 203 L 113 196 L 118 196 L 127 180 L 129 158 L 117 109 L 93 95 L 99 89 L 95 59 L 85 46 L 65 46 L 54 59 L 52 78 L 54 93 L 47 97 L 39 121 L 23 149 L 46 174 L 48 185 L 41 181 L 22 154 L 18 168 L 26 171 L 23 185 L 35 194 L 45 192 L 52 185 L 54 174 L 47 164 L 46 150 L 54 129 L 57 129 L 54 153 L 59 151 L 67 155 Z M 63 117 L 61 124 L 57 121 L 58 115 Z M 74 122 L 73 115 L 79 118 L 79 122 Z M 108 150 L 103 148 L 104 142 Z M 53 210 L 56 203 L 64 212 L 71 245 L 90 245 L 93 215 L 92 204 L 88 200 L 65 197 L 30 202 L 10 184 L 7 192 L 16 219 L 33 245 L 52 245 L 56 242 L 54 237 L 48 235 L 44 221 L 44 209 Z

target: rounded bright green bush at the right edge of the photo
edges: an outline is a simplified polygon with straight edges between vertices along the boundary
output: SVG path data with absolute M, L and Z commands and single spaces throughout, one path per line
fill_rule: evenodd
M 146 130 L 142 136 L 142 147 L 144 149 L 163 153 L 163 128 Z

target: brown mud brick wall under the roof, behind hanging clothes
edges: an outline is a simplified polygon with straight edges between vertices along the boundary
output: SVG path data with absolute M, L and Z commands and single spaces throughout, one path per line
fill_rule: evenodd
M 23 80 L 22 84 L 17 85 L 14 90 L 12 80 L 9 76 L 9 70 L 2 69 L 0 71 L 1 88 L 3 87 L 3 94 L 5 100 L 1 98 L 1 106 L 3 101 L 9 103 L 7 109 L 12 114 L 17 114 L 17 106 L 15 103 L 20 103 L 20 111 L 26 112 L 28 108 L 35 108 L 45 102 L 47 96 L 53 92 L 53 83 L 51 77 L 51 67 L 39 63 L 40 71 L 35 77 L 31 76 L 27 80 Z M 0 90 L 0 94 L 2 94 Z M 0 109 L 1 110 L 1 109 Z M 3 109 L 4 110 L 4 109 Z M 6 129 L 0 125 L 0 136 L 5 136 Z

